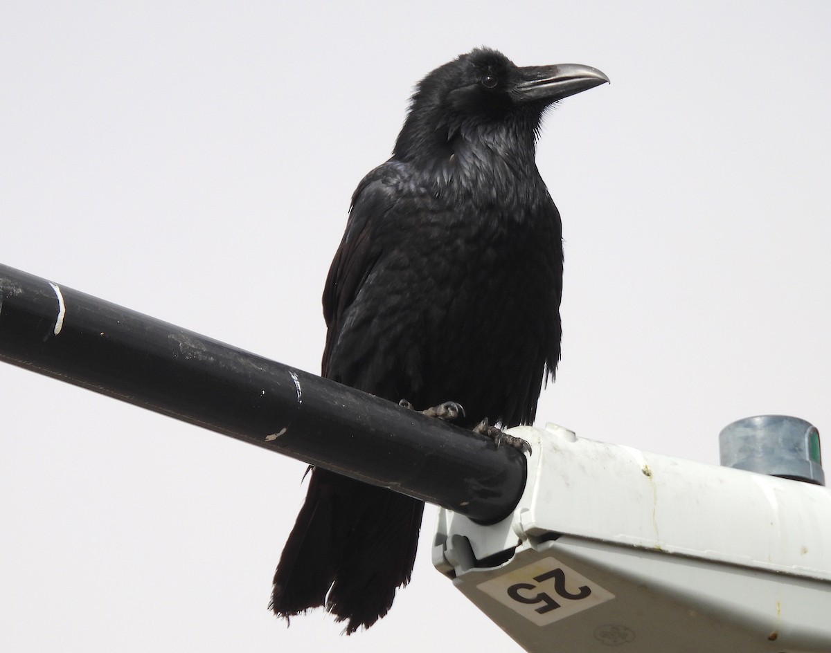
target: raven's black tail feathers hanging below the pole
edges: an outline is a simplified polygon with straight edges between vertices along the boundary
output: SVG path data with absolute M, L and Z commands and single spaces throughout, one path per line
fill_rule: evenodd
M 347 635 L 368 628 L 410 581 L 423 510 L 416 499 L 313 470 L 269 607 L 288 620 L 325 604 L 347 621 Z

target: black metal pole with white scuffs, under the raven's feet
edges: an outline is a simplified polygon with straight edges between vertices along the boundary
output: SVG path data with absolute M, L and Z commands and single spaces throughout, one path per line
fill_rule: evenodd
M 0 360 L 482 522 L 524 489 L 511 447 L 2 265 Z

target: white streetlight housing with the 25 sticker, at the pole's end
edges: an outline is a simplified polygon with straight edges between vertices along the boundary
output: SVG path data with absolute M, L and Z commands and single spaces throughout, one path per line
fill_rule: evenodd
M 519 505 L 488 526 L 442 509 L 433 559 L 527 651 L 831 651 L 827 488 L 509 432 L 533 448 Z

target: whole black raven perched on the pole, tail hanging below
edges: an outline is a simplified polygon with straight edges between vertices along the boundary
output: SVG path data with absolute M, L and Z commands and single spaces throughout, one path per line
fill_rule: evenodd
M 420 81 L 389 161 L 361 181 L 323 291 L 322 374 L 457 420 L 534 420 L 560 357 L 560 216 L 535 163 L 543 112 L 608 81 L 478 48 Z M 271 608 L 369 627 L 410 580 L 424 504 L 314 469 Z

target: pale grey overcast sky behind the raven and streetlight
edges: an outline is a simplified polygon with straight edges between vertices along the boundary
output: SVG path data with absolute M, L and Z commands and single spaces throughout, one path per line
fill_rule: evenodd
M 0 2 L 0 262 L 317 372 L 416 80 L 479 45 L 585 63 L 612 84 L 538 149 L 566 256 L 538 422 L 714 464 L 760 413 L 831 442 L 829 28 L 829 2 Z M 302 463 L 7 365 L 0 406 L 5 651 L 519 650 L 432 568 L 434 509 L 386 619 L 287 630 Z

